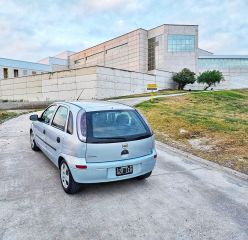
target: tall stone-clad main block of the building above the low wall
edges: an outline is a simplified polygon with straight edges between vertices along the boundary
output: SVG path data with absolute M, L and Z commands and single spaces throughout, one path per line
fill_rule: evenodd
M 105 66 L 149 73 L 154 70 L 197 71 L 198 26 L 164 24 L 137 29 L 72 54 L 70 68 Z

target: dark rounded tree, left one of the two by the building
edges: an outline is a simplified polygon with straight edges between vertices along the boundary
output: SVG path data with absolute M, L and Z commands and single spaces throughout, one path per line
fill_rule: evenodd
M 195 73 L 188 68 L 184 68 L 181 72 L 175 73 L 172 80 L 178 84 L 178 90 L 183 90 L 187 84 L 195 82 Z

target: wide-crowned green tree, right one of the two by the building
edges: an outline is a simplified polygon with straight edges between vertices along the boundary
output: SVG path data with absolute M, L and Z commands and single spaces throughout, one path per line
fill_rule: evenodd
M 223 74 L 217 70 L 205 71 L 197 78 L 198 83 L 207 84 L 204 90 L 207 90 L 211 86 L 216 86 L 216 84 L 220 83 L 221 81 L 224 81 Z

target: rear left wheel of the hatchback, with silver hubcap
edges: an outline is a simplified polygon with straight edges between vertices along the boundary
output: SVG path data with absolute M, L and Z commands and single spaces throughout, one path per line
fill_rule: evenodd
M 74 194 L 78 192 L 80 189 L 80 184 L 74 181 L 71 171 L 65 160 L 62 160 L 59 170 L 60 181 L 64 191 L 68 194 Z

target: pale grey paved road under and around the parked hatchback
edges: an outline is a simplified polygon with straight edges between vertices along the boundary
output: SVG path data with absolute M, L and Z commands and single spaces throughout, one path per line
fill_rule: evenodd
M 0 125 L 0 239 L 248 239 L 248 182 L 158 144 L 144 181 L 62 190 L 29 146 L 28 115 Z

